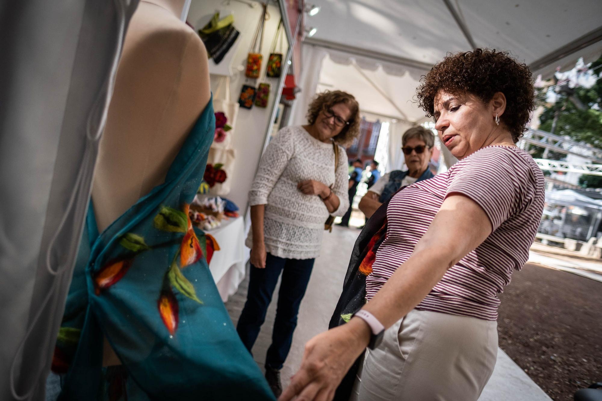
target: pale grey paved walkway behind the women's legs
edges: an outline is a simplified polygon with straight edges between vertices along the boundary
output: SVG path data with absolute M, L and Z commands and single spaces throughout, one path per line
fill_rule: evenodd
M 352 221 L 353 223 L 355 222 Z M 293 346 L 282 369 L 284 385 L 290 382 L 290 377 L 300 365 L 305 342 L 328 327 L 330 316 L 343 285 L 349 255 L 358 234 L 357 229 L 339 227 L 335 227 L 330 234 L 324 233 L 322 255 L 315 263 L 308 291 L 300 308 L 299 325 L 293 338 Z M 226 303 L 226 307 L 235 323 L 244 306 L 247 284 L 247 279 L 245 279 L 238 292 Z M 278 288 L 276 288 L 276 291 L 278 291 Z M 255 361 L 261 367 L 263 367 L 265 352 L 270 344 L 271 328 L 275 314 L 276 295 L 268 309 L 266 321 L 253 348 Z M 494 400 L 545 401 L 550 400 L 550 398 L 517 364 L 499 350 L 493 376 L 480 397 L 480 401 Z

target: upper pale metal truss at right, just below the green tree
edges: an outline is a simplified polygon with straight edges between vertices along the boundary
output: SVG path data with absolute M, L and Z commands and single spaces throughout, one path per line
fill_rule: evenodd
M 550 134 L 550 132 L 540 131 L 539 129 L 529 129 L 529 131 L 525 132 L 524 137 L 521 138 L 518 145 L 527 150 L 529 149 L 529 145 L 535 145 L 566 155 L 577 155 L 593 163 L 602 164 L 601 149 L 561 137 L 560 135 Z

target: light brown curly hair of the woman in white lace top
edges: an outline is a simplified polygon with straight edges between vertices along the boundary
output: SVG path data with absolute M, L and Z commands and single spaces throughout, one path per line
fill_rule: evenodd
M 315 123 L 315 119 L 318 118 L 320 111 L 339 103 L 344 103 L 349 107 L 351 116 L 349 117 L 349 124 L 344 126 L 343 130 L 334 137 L 334 141 L 339 145 L 347 145 L 353 141 L 353 138 L 359 135 L 360 122 L 358 101 L 350 93 L 341 90 L 326 90 L 318 93 L 309 104 L 307 121 L 309 125 L 312 125 Z

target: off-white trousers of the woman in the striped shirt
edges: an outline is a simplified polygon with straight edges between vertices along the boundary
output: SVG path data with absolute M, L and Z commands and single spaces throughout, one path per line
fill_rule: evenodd
M 497 358 L 497 322 L 409 312 L 366 350 L 350 401 L 477 401 Z

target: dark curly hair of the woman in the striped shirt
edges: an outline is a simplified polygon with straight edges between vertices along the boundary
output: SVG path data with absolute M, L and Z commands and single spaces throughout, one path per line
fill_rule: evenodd
M 529 67 L 519 63 L 509 52 L 495 49 L 474 49 L 471 52 L 448 53 L 420 79 L 416 98 L 427 117 L 434 113 L 435 97 L 439 90 L 455 95 L 471 93 L 483 103 L 496 92 L 506 96 L 506 110 L 500 121 L 516 142 L 527 131 L 535 92 Z

